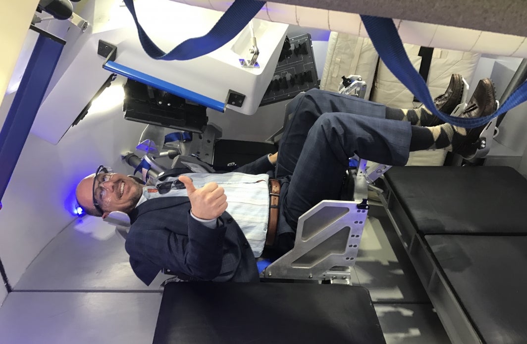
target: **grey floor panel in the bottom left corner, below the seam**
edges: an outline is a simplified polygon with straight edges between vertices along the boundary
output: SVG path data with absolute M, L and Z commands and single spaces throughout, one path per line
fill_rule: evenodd
M 12 292 L 0 308 L 0 342 L 145 344 L 158 293 Z

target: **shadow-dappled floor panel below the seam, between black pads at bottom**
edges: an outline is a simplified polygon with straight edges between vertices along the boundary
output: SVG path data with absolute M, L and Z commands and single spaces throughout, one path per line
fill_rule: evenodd
M 431 304 L 374 304 L 387 344 L 448 344 Z

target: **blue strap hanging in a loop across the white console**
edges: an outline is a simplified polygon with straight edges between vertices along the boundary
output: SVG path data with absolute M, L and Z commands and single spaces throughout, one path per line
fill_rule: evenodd
M 165 53 L 143 30 L 135 14 L 133 0 L 124 0 L 132 14 L 144 51 L 155 60 L 191 60 L 206 55 L 232 40 L 265 5 L 265 1 L 235 0 L 218 22 L 204 36 L 188 39 Z

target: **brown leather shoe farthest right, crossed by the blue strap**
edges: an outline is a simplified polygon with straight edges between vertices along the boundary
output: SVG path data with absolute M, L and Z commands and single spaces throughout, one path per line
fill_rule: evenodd
M 489 78 L 480 80 L 477 84 L 472 98 L 467 103 L 465 110 L 460 114 L 461 118 L 480 118 L 490 116 L 496 110 L 496 92 L 494 84 Z M 486 124 L 473 128 L 464 129 L 454 127 L 455 133 L 452 138 L 452 151 L 462 155 L 464 158 L 472 157 L 477 151 L 476 141 L 479 140 L 481 132 Z M 466 135 L 462 135 L 466 131 Z

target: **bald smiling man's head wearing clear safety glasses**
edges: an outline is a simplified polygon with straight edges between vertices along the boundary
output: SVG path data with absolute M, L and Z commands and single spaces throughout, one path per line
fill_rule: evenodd
M 134 178 L 100 167 L 97 173 L 82 179 L 75 191 L 77 202 L 92 216 L 108 216 L 111 212 L 130 213 L 139 202 L 142 185 Z

